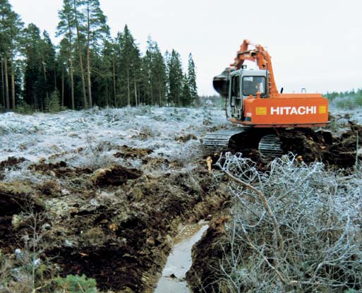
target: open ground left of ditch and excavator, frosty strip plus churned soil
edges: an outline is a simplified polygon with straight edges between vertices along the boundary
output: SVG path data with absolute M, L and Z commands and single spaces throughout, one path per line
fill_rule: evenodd
M 47 233 L 46 257 L 64 276 L 84 273 L 104 291 L 145 292 L 181 222 L 225 201 L 200 138 L 227 125 L 213 108 L 0 114 L 1 251 L 26 249 L 21 237 L 35 226 L 13 219 L 27 220 L 34 205 L 47 219 L 37 223 Z

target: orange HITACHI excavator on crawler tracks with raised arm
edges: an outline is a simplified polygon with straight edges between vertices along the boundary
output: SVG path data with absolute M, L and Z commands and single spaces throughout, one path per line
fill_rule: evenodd
M 247 69 L 246 60 L 254 61 L 258 69 Z M 252 140 L 261 153 L 277 156 L 283 153 L 278 135 L 281 129 L 328 124 L 328 102 L 322 95 L 304 89 L 302 93 L 278 92 L 271 57 L 260 44 L 244 40 L 230 65 L 215 76 L 213 85 L 226 99 L 227 119 L 239 127 L 207 134 L 203 145 L 227 147 L 239 133 L 248 131 L 255 133 Z

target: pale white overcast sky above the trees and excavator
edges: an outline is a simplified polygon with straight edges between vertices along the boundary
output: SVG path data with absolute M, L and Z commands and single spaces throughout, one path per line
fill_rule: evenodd
M 199 95 L 215 95 L 212 78 L 234 60 L 244 39 L 272 56 L 284 92 L 362 88 L 361 0 L 99 0 L 112 36 L 128 25 L 142 52 L 147 36 L 196 65 Z M 25 25 L 54 37 L 62 0 L 9 0 Z

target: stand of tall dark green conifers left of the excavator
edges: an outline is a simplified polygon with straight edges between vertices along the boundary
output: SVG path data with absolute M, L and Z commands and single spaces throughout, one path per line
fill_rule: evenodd
M 25 27 L 0 0 L 0 107 L 180 107 L 198 95 L 191 53 L 184 72 L 180 54 L 162 54 L 151 37 L 142 54 L 127 25 L 112 38 L 99 0 L 64 0 L 56 37 L 59 45 L 35 24 Z

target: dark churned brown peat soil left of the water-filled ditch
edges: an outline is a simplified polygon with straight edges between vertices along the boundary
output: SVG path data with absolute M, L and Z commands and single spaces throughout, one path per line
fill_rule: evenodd
M 146 161 L 159 164 L 156 160 Z M 66 162 L 29 169 L 53 178 L 37 186 L 0 184 L 0 249 L 11 253 L 21 247 L 28 225 L 12 222 L 26 210 L 27 198 L 47 214 L 43 257 L 54 259 L 60 275 L 84 273 L 104 291 L 152 292 L 179 225 L 208 217 L 227 199 L 201 162 L 191 171 L 160 176 L 122 166 L 80 169 Z M 59 186 L 59 179 L 68 185 Z

